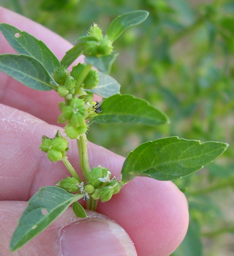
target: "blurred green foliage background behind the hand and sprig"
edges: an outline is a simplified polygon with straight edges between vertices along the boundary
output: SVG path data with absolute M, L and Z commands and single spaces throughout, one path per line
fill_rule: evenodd
M 177 135 L 230 144 L 215 162 L 175 184 L 185 191 L 190 224 L 171 256 L 234 255 L 234 1 L 0 0 L 74 43 L 98 23 L 148 10 L 149 18 L 115 42 L 110 73 L 131 93 L 170 118 L 170 125 L 93 124 L 88 139 L 126 156 L 140 143 Z

